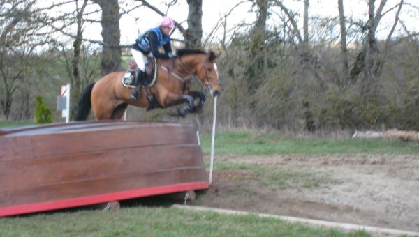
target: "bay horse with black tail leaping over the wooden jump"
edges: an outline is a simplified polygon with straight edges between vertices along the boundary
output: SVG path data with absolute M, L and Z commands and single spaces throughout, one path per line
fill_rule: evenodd
M 205 102 L 205 94 L 190 91 L 189 86 L 192 79 L 196 79 L 201 86 L 209 89 L 213 96 L 221 92 L 219 72 L 215 63 L 217 57 L 219 55 L 214 52 L 179 49 L 177 56 L 172 59 L 157 59 L 156 82 L 148 89 L 154 97 L 153 100 L 147 98 L 144 88 L 141 89 L 138 100 L 129 100 L 133 89 L 122 84 L 126 71 L 111 72 L 84 89 L 78 102 L 76 120 L 86 120 L 90 109 L 93 110 L 96 120 L 122 119 L 128 105 L 151 109 L 184 103 L 184 107 L 177 109 L 178 116 L 198 112 Z M 197 98 L 200 100 L 198 105 L 195 103 Z

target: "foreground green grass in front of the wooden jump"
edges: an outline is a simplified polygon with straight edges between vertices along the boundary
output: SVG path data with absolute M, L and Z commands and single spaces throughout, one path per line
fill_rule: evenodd
M 256 215 L 147 207 L 8 217 L 0 227 L 0 236 L 369 236 Z

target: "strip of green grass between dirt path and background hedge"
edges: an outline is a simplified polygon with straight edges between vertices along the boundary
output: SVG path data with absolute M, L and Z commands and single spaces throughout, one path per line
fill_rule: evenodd
M 211 135 L 201 135 L 204 153 L 210 153 Z M 217 155 L 276 155 L 323 153 L 398 153 L 419 154 L 419 144 L 385 139 L 287 137 L 264 132 L 218 132 Z

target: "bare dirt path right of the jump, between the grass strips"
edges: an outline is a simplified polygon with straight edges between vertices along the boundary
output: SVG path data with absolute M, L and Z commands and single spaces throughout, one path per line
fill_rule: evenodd
M 251 171 L 215 170 L 212 187 L 193 205 L 419 231 L 419 155 L 231 156 L 215 162 L 312 174 L 318 185 L 283 188 L 275 180 L 263 185 Z

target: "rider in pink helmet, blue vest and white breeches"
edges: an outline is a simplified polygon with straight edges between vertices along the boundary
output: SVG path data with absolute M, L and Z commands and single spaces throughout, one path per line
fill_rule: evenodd
M 145 61 L 144 56 L 154 56 L 158 59 L 170 59 L 175 56 L 170 45 L 170 31 L 175 27 L 175 21 L 168 16 L 164 16 L 159 26 L 149 29 L 135 40 L 131 48 L 135 63 L 137 63 L 138 77 L 135 82 L 135 89 L 130 95 L 130 100 L 138 100 L 140 96 L 141 83 L 145 84 Z M 158 47 L 164 49 L 164 54 L 159 52 Z

